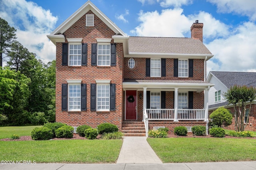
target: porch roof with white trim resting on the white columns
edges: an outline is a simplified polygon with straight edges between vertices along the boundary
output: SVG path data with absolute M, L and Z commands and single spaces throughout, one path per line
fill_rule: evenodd
M 214 86 L 214 84 L 200 81 L 200 80 L 134 80 L 134 79 L 124 79 L 123 89 L 136 89 L 143 90 L 157 90 L 162 91 L 174 91 L 174 88 L 179 88 L 179 91 L 196 91 L 202 92 L 206 88 Z

